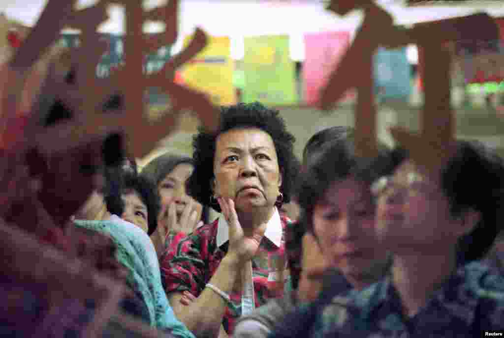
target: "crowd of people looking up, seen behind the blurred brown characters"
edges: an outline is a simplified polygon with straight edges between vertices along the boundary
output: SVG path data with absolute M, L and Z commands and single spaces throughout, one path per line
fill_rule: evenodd
M 278 111 L 224 107 L 218 132 L 195 135 L 192 156 L 166 153 L 140 169 L 127 157 L 91 171 L 80 163 L 80 177 L 65 184 L 96 176 L 103 184 L 79 207 L 74 200 L 60 237 L 24 229 L 56 247 L 54 238 L 73 238 L 67 245 L 77 257 L 129 290 L 121 310 L 168 336 L 474 337 L 504 329 L 501 158 L 458 141 L 433 175 L 407 149 L 381 145 L 376 158 L 359 158 L 348 127 L 313 135 L 302 161 L 294 141 Z M 75 158 L 89 160 L 86 152 Z M 76 172 L 67 165 L 55 173 L 64 169 Z M 69 192 L 55 188 L 52 197 Z M 12 201 L 4 219 L 26 224 L 28 202 Z M 299 217 L 286 213 L 287 203 Z M 18 320 L 4 313 L 2 333 L 26 336 L 23 318 L 41 321 L 30 334 L 48 330 L 38 318 L 52 313 L 44 300 L 21 299 L 32 307 L 18 309 Z M 49 321 L 79 336 L 94 305 L 67 306 L 79 320 Z

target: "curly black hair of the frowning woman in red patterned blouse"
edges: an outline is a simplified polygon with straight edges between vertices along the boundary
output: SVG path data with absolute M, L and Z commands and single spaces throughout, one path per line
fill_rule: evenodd
M 200 127 L 199 133 L 193 139 L 195 170 L 187 182 L 188 192 L 203 205 L 210 205 L 216 211 L 221 211 L 217 203 L 210 201 L 213 194 L 211 181 L 214 178 L 215 144 L 220 134 L 239 128 L 258 128 L 271 136 L 282 174 L 280 191 L 283 194 L 283 202 L 290 202 L 295 175 L 295 137 L 287 131 L 279 111 L 268 109 L 258 102 L 222 107 L 220 127 L 215 133 L 208 133 Z

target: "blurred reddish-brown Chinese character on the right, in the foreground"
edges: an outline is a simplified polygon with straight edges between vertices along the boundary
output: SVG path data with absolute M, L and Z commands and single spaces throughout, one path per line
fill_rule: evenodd
M 370 1 L 357 4 L 349 0 L 333 0 L 329 9 L 343 15 L 364 7 L 364 22 L 357 32 L 355 41 L 331 75 L 321 98 L 321 107 L 328 109 L 343 93 L 357 87 L 358 101 L 355 117 L 356 152 L 360 156 L 372 157 L 377 152 L 376 110 L 374 96 L 372 53 L 380 46 L 399 47 L 416 43 L 421 47 L 425 59 L 425 104 L 420 118 L 419 134 L 394 127 L 392 136 L 410 157 L 436 175 L 454 152 L 454 113 L 450 106 L 451 55 L 447 41 L 468 37 L 488 39 L 494 36 L 496 27 L 488 15 L 476 14 L 464 18 L 425 23 L 409 30 L 393 26 L 392 17 Z M 476 26 L 475 23 L 478 23 Z M 477 30 L 469 27 L 484 28 Z

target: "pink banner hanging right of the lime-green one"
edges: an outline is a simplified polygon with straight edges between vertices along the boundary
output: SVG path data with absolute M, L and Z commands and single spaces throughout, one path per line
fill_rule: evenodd
M 319 101 L 331 72 L 338 66 L 350 46 L 349 32 L 309 33 L 304 36 L 304 99 L 308 105 Z M 349 90 L 341 101 L 355 96 Z

